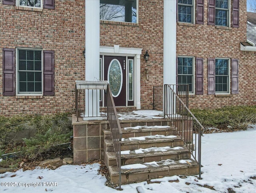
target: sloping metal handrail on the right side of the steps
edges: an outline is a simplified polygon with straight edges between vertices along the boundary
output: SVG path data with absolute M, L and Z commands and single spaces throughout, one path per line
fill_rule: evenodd
M 176 128 L 184 144 L 190 151 L 190 154 L 199 165 L 199 177 L 201 178 L 201 136 L 204 127 L 196 119 L 193 113 L 188 109 L 187 105 L 174 91 L 176 85 L 164 85 L 164 117 L 168 117 L 169 121 Z M 196 130 L 198 133 L 196 134 Z M 195 139 L 193 141 L 193 131 Z M 198 135 L 198 136 L 197 136 Z

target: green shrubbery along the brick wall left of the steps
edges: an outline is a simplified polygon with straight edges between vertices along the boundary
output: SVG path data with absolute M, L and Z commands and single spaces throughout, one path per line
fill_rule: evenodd
M 23 142 L 8 140 L 10 133 L 23 129 L 36 129 L 34 137 L 24 138 Z M 16 167 L 24 158 L 36 159 L 41 153 L 50 151 L 58 144 L 68 143 L 72 135 L 72 124 L 69 113 L 55 115 L 20 114 L 13 117 L 0 116 L 0 157 L 13 153 L 0 162 L 0 167 Z

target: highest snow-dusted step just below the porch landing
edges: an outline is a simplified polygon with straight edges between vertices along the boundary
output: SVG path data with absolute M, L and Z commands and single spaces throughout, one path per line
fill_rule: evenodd
M 110 129 L 104 129 L 104 139 L 111 139 Z M 177 135 L 173 126 L 142 125 L 122 128 L 122 138 L 141 137 L 145 135 Z

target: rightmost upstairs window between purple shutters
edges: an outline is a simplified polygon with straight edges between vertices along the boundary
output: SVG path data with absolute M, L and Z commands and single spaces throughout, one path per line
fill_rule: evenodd
M 215 1 L 215 25 L 228 26 L 229 6 L 228 0 Z

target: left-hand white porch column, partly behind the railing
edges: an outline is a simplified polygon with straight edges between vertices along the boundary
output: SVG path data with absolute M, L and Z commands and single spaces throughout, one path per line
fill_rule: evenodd
M 100 80 L 100 0 L 85 0 L 85 80 Z M 86 95 L 86 117 L 99 115 L 100 95 L 94 91 Z

